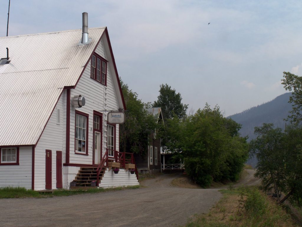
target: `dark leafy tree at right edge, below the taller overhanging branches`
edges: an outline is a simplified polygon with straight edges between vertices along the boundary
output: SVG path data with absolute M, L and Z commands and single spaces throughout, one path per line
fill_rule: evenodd
M 289 200 L 302 206 L 302 128 L 290 126 L 283 133 L 273 124 L 255 127 L 256 139 L 250 142 L 250 150 L 258 158 L 256 176 L 262 179 L 265 190 L 284 192 L 278 201 Z

